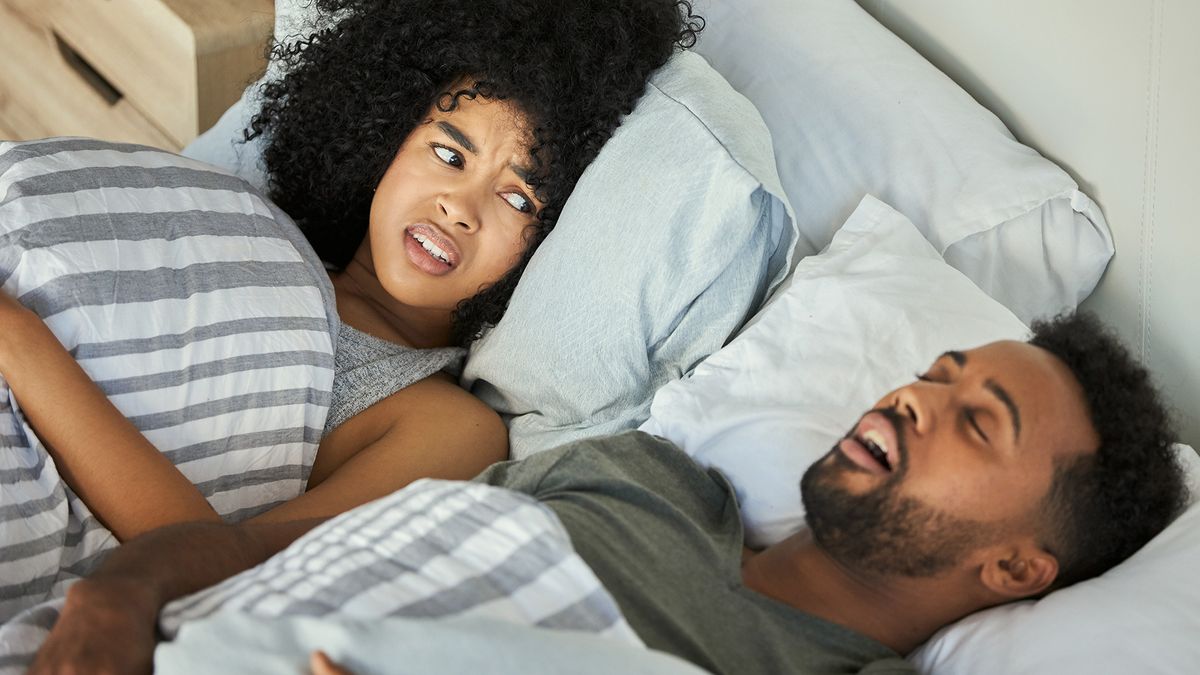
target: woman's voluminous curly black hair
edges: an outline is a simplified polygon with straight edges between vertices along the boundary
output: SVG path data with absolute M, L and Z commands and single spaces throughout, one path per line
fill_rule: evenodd
M 454 312 L 458 345 L 499 321 L 580 174 L 650 73 L 703 29 L 686 0 L 314 2 L 311 32 L 277 36 L 283 77 L 263 85 L 246 138 L 265 137 L 270 196 L 326 263 L 350 261 L 376 185 L 432 104 L 503 98 L 528 123 L 530 187 L 545 205 L 521 262 Z

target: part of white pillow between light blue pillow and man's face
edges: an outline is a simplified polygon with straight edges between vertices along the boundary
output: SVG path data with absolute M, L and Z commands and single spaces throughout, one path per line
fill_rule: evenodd
M 658 392 L 642 429 L 721 470 L 746 543 L 767 546 L 803 526 L 800 476 L 880 396 L 947 350 L 1027 335 L 907 219 L 865 197 L 742 334 Z

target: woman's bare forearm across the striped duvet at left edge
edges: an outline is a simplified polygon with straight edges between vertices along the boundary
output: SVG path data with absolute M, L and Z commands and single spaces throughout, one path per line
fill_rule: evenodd
M 116 410 L 41 317 L 0 291 L 0 375 L 59 472 L 120 540 L 220 520 L 199 490 Z

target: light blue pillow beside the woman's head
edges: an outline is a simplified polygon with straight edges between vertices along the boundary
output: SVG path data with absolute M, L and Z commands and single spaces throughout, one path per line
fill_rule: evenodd
M 720 348 L 790 265 L 781 195 L 754 107 L 673 56 L 472 346 L 462 382 L 508 416 L 512 456 L 637 426 Z

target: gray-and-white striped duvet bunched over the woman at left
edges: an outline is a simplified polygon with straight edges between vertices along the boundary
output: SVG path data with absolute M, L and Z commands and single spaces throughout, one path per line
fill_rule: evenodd
M 227 520 L 302 492 L 334 378 L 332 288 L 241 179 L 137 145 L 0 143 L 0 283 Z M 114 545 L 0 380 L 0 621 Z

